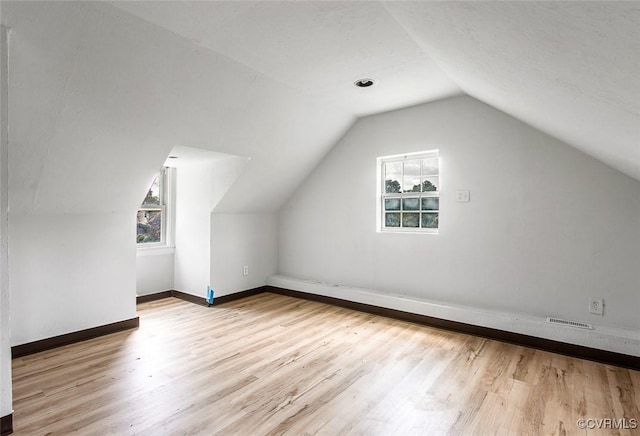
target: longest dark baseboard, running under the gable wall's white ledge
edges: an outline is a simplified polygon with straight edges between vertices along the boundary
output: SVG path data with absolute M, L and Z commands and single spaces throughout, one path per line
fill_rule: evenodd
M 403 312 L 401 310 L 387 309 L 385 307 L 373 306 L 364 303 L 356 303 L 353 301 L 342 300 L 340 298 L 310 294 L 308 292 L 292 291 L 275 286 L 265 286 L 264 288 L 266 292 L 272 292 L 274 294 L 317 301 L 320 303 L 331 304 L 347 309 L 358 310 L 360 312 L 386 316 L 388 318 L 399 319 L 402 321 L 415 322 L 417 324 L 423 324 L 430 327 L 437 327 L 454 332 L 466 333 L 488 339 L 495 339 L 515 345 L 524 345 L 526 347 L 550 351 L 553 353 L 563 354 L 565 356 L 578 357 L 581 359 L 592 360 L 609 365 L 621 366 L 624 368 L 634 369 L 636 371 L 640 370 L 640 357 L 630 356 L 628 354 L 599 350 L 597 348 L 584 347 L 582 345 L 567 344 L 565 342 L 554 341 L 551 339 L 543 339 L 535 336 L 507 332 L 504 330 L 498 330 L 489 327 L 481 327 L 472 324 L 449 321 L 446 319 L 434 318 L 426 315 Z

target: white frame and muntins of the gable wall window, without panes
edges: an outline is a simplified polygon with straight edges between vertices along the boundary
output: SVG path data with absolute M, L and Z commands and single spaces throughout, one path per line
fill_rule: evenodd
M 386 177 L 384 174 L 384 170 L 385 170 L 385 164 L 387 163 L 392 163 L 392 162 L 405 162 L 405 161 L 411 161 L 411 160 L 417 160 L 417 159 L 430 159 L 430 158 L 436 158 L 438 159 L 438 185 L 437 190 L 435 191 L 425 191 L 425 192 L 401 192 L 399 193 L 386 193 L 385 192 L 385 185 L 386 185 Z M 419 198 L 420 199 L 420 204 L 422 204 L 422 198 L 440 198 L 440 190 L 441 190 L 441 184 L 442 184 L 442 176 L 440 174 L 440 151 L 438 149 L 435 150 L 427 150 L 427 151 L 419 151 L 419 152 L 415 152 L 415 153 L 403 153 L 403 154 L 396 154 L 396 155 L 391 155 L 391 156 L 381 156 L 378 157 L 377 160 L 377 189 L 376 189 L 376 231 L 379 233 L 420 233 L 420 234 L 431 234 L 431 235 L 437 235 L 439 233 L 439 227 L 440 227 L 440 223 L 439 223 L 439 219 L 440 219 L 440 207 L 438 206 L 438 210 L 434 211 L 438 213 L 438 228 L 427 228 L 427 227 L 402 227 L 402 221 L 400 222 L 400 227 L 387 227 L 385 225 L 385 200 L 387 199 L 399 199 L 400 200 L 400 204 L 402 205 L 402 200 L 405 198 Z M 404 166 L 403 166 L 403 171 L 404 171 Z M 436 175 L 432 175 L 432 174 L 423 174 L 422 173 L 423 168 L 422 165 L 420 166 L 420 180 L 421 180 L 421 184 L 423 183 L 422 180 L 425 177 L 428 176 L 436 176 Z M 402 184 L 404 182 L 404 172 L 403 175 L 401 176 L 401 180 L 400 183 Z M 440 204 L 439 200 L 438 200 L 438 205 Z M 397 211 L 398 213 L 400 213 L 401 215 L 401 220 L 402 220 L 402 206 L 400 207 L 400 210 Z M 420 215 L 420 225 L 422 225 L 422 210 L 418 210 L 416 212 L 419 212 Z M 433 213 L 433 212 L 430 212 Z

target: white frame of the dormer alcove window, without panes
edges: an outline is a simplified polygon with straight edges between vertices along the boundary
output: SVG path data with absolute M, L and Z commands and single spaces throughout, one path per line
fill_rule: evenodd
M 138 250 L 161 249 L 173 247 L 174 245 L 174 196 L 175 196 L 175 169 L 162 167 L 158 172 L 159 176 L 159 197 L 160 205 L 141 204 L 137 212 L 140 211 L 160 211 L 161 228 L 160 241 L 136 243 Z M 136 231 L 137 236 L 137 231 Z

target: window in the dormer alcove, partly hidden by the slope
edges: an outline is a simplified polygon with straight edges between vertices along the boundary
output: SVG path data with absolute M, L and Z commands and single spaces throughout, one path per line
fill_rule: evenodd
M 167 242 L 168 175 L 169 168 L 160 170 L 138 209 L 138 244 L 162 245 Z

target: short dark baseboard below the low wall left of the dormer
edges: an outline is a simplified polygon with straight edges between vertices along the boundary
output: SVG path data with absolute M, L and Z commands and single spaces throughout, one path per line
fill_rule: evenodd
M 41 339 L 39 341 L 28 342 L 22 345 L 11 347 L 11 358 L 28 356 L 29 354 L 39 353 L 40 351 L 51 350 L 52 348 L 61 347 L 63 345 L 74 344 L 76 342 L 86 341 L 87 339 L 97 338 L 99 336 L 111 333 L 121 332 L 123 330 L 136 329 L 140 326 L 140 318 L 126 319 L 111 324 L 101 325 L 86 330 L 67 333 L 52 338 Z

